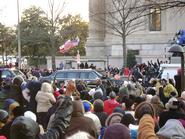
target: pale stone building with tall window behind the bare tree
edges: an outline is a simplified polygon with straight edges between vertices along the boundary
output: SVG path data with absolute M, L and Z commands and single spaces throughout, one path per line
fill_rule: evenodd
M 89 0 L 87 59 L 93 59 L 94 64 L 102 68 L 105 62 L 106 65 L 122 67 L 122 39 L 111 35 L 106 26 L 106 15 L 94 14 L 106 9 L 108 1 L 110 2 L 110 0 Z M 150 60 L 155 62 L 157 58 L 166 61 L 168 60 L 167 50 L 175 33 L 185 29 L 185 14 L 176 9 L 161 10 L 160 7 L 151 8 L 146 12 L 152 12 L 152 14 L 144 17 L 147 23 L 142 26 L 142 29 L 126 38 L 127 50 L 136 53 L 137 63 Z M 100 19 L 104 20 L 97 22 Z

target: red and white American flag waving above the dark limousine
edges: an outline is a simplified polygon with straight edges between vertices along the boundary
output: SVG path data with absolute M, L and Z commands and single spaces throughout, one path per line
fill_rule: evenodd
M 78 37 L 75 40 L 66 41 L 62 46 L 59 47 L 60 53 L 68 52 L 71 48 L 78 46 L 79 42 L 80 40 Z

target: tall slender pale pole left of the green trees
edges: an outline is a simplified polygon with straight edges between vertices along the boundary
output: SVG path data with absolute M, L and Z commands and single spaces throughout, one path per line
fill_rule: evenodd
M 21 31 L 20 31 L 20 17 L 19 17 L 19 0 L 17 0 L 17 41 L 18 41 L 18 67 L 21 68 Z

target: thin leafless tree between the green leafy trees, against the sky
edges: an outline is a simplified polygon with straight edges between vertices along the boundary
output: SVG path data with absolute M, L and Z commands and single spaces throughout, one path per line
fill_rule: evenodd
M 56 3 L 56 0 L 48 0 L 49 5 L 49 13 L 48 19 L 50 22 L 49 28 L 49 38 L 51 42 L 50 52 L 51 52 L 51 61 L 52 61 L 52 69 L 56 69 L 55 64 L 55 56 L 56 56 L 56 34 L 57 34 L 57 27 L 59 24 L 59 19 L 65 9 L 65 1 L 59 1 Z

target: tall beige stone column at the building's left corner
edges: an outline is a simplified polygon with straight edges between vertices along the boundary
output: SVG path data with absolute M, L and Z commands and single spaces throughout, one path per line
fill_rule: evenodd
M 89 0 L 89 38 L 86 43 L 88 59 L 105 58 L 105 0 Z

